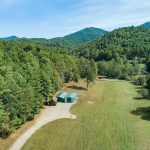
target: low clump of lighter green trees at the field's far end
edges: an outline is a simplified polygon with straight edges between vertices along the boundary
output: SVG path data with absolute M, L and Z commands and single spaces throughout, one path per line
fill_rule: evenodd
M 140 71 L 138 64 L 130 64 L 126 57 L 116 57 L 111 61 L 99 61 L 97 63 L 98 74 L 108 78 L 132 80 L 132 76 Z M 130 76 L 130 77 L 129 77 Z

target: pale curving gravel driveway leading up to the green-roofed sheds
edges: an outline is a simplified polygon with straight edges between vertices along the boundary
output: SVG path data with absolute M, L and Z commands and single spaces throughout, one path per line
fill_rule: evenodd
M 69 112 L 69 109 L 73 104 L 74 103 L 57 103 L 56 106 L 47 107 L 35 124 L 17 139 L 10 150 L 20 150 L 31 135 L 48 122 L 61 118 L 76 119 L 77 116 L 72 115 Z

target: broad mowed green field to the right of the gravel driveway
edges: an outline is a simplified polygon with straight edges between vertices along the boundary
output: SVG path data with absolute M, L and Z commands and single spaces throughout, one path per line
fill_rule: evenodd
M 63 91 L 78 92 L 70 110 L 77 119 L 46 124 L 22 150 L 150 150 L 150 122 L 130 112 L 150 105 L 148 100 L 136 99 L 138 87 L 129 82 L 96 81 L 89 91 L 72 88 L 66 86 Z

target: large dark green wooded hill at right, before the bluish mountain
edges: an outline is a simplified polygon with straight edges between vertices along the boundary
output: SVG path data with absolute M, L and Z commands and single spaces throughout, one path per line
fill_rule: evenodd
M 150 55 L 150 30 L 133 26 L 119 28 L 82 45 L 73 53 L 84 57 L 89 53 L 95 61 L 117 59 L 118 55 L 125 55 L 127 59 L 147 57 Z

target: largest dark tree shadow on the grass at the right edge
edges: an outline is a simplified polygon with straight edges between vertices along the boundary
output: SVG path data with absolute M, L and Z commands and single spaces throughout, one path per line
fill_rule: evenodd
M 130 112 L 133 115 L 141 116 L 141 119 L 150 121 L 150 107 L 139 107 Z

